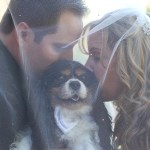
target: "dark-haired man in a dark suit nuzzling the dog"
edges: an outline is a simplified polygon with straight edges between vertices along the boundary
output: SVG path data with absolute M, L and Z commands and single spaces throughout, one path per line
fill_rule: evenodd
M 0 26 L 1 150 L 28 121 L 23 72 L 35 76 L 54 61 L 72 59 L 70 43 L 81 33 L 85 11 L 81 0 L 10 1 Z

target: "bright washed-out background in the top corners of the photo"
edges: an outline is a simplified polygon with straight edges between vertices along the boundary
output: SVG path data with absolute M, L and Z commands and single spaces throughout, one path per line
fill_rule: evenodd
M 0 20 L 10 0 L 0 0 Z M 100 18 L 105 13 L 117 8 L 139 7 L 150 12 L 150 0 L 84 0 L 91 13 L 85 22 Z

